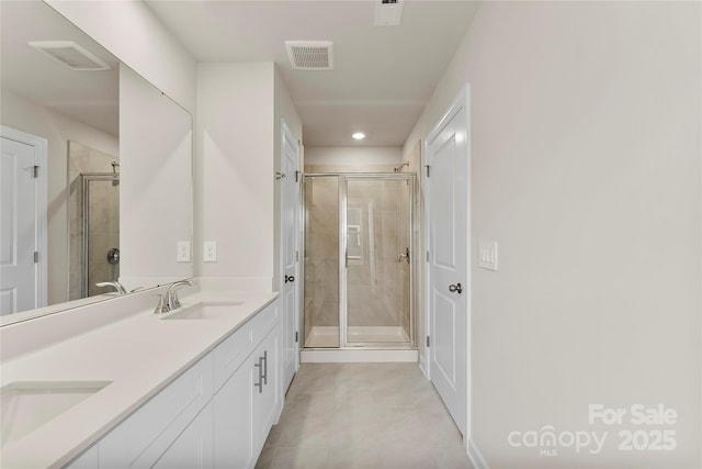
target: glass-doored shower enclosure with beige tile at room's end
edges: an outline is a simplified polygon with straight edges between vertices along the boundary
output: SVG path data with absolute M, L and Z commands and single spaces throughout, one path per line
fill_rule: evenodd
M 304 180 L 304 347 L 415 347 L 415 175 Z

